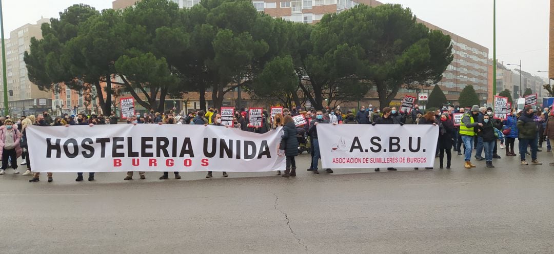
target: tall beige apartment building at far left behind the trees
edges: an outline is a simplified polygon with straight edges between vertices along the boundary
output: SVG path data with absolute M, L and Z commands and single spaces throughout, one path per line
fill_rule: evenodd
M 43 18 L 38 20 L 37 24 L 25 24 L 13 30 L 10 33 L 10 39 L 6 40 L 8 105 L 13 116 L 30 115 L 52 109 L 52 93 L 40 91 L 29 81 L 27 66 L 23 61 L 25 51 L 29 50 L 31 38 L 41 39 L 40 26 L 48 22 L 50 22 L 49 19 Z M 3 76 L 0 75 L 0 80 L 2 79 Z M 3 100 L 3 86 L 0 86 L 0 101 Z M 3 103 L 1 107 L 3 112 Z

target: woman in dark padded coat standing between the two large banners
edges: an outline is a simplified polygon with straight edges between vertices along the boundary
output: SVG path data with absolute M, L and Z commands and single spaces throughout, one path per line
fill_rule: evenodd
M 298 155 L 298 139 L 296 139 L 296 126 L 291 116 L 286 116 L 283 122 L 283 135 L 279 149 L 284 151 L 286 157 L 285 173 L 281 177 L 296 177 L 296 160 Z

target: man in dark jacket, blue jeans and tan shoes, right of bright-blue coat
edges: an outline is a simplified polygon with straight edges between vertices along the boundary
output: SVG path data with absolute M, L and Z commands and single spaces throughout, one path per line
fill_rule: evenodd
M 517 129 L 519 131 L 519 149 L 521 165 L 529 165 L 525 160 L 527 146 L 531 146 L 531 164 L 542 165 L 537 160 L 537 123 L 533 119 L 534 110 L 530 106 L 526 106 L 521 112 L 521 116 L 517 118 Z

